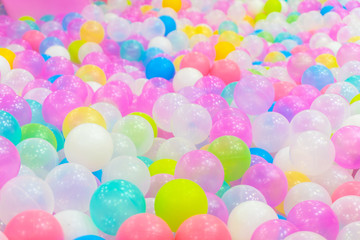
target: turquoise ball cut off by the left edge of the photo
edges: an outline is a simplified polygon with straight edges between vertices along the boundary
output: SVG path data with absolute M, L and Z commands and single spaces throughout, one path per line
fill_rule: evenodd
M 21 128 L 16 118 L 0 110 L 0 136 L 9 139 L 14 145 L 21 140 Z

